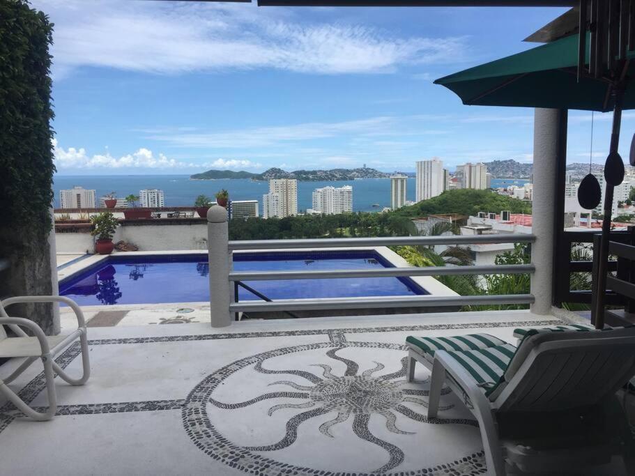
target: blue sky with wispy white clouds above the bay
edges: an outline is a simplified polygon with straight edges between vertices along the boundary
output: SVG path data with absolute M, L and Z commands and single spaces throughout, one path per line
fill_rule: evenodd
M 432 82 L 536 46 L 523 38 L 565 11 L 31 4 L 55 24 L 54 151 L 68 175 L 531 162 L 533 109 L 464 106 Z M 569 162 L 590 158 L 590 119 L 569 115 Z M 610 119 L 595 113 L 595 162 Z M 625 112 L 625 137 L 634 125 Z

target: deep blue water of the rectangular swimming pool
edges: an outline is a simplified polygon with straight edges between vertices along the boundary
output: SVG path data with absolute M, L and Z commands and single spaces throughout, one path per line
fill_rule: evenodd
M 373 251 L 266 252 L 234 254 L 234 270 L 351 270 L 392 268 Z M 206 254 L 109 256 L 60 283 L 60 294 L 79 305 L 197 302 L 209 300 Z M 428 294 L 409 278 L 295 279 L 250 281 L 268 298 L 349 298 Z M 259 300 L 239 289 L 239 300 Z

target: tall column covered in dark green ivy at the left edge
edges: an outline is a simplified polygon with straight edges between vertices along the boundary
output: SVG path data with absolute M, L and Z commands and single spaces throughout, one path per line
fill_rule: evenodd
M 53 25 L 25 0 L 0 1 L 0 256 L 9 271 L 0 295 L 52 294 Z M 15 316 L 53 331 L 51 305 L 20 305 Z

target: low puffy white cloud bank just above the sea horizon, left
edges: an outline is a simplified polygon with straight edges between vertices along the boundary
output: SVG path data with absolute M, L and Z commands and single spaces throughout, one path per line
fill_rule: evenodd
M 55 165 L 60 170 L 65 169 L 258 169 L 261 164 L 250 160 L 217 159 L 208 163 L 181 162 L 167 158 L 166 155 L 155 154 L 148 148 L 139 148 L 134 153 L 114 157 L 109 152 L 104 154 L 89 155 L 85 148 L 63 148 L 59 146 L 57 139 L 53 139 Z

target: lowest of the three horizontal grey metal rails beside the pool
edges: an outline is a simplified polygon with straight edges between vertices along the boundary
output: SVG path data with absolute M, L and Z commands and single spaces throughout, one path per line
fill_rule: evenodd
M 468 296 L 390 296 L 368 298 L 280 299 L 273 302 L 235 302 L 230 312 L 315 311 L 374 309 L 376 307 L 461 307 L 471 305 L 533 304 L 533 294 Z

